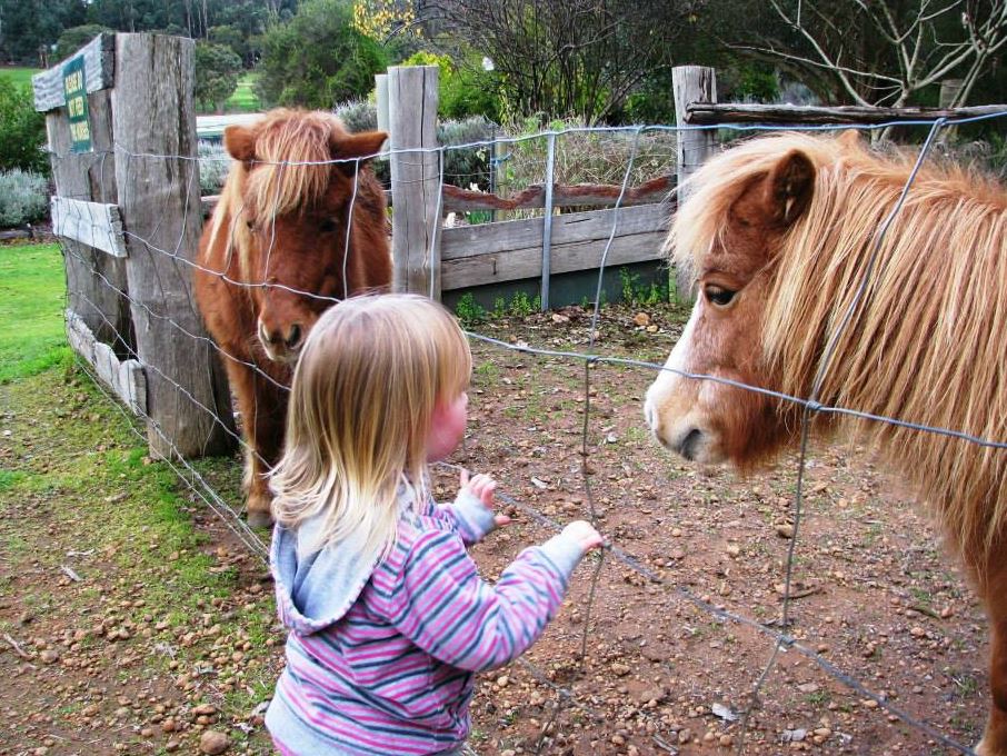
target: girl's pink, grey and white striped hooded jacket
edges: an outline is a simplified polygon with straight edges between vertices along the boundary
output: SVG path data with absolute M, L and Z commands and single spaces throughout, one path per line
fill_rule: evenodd
M 582 556 L 576 540 L 525 549 L 489 585 L 466 546 L 493 528 L 492 513 L 467 491 L 418 506 L 406 491 L 395 546 L 377 561 L 353 543 L 299 553 L 312 521 L 273 533 L 287 666 L 266 726 L 283 754 L 455 752 L 473 673 L 520 656 L 559 609 Z

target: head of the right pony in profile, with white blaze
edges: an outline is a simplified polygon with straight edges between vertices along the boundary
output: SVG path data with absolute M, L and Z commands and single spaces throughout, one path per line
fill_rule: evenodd
M 857 149 L 849 137 L 780 135 L 728 150 L 691 179 L 666 246 L 692 271 L 697 299 L 645 402 L 647 424 L 667 448 L 749 467 L 792 438 L 790 406 L 732 384 L 782 389 L 764 338 L 779 257 L 805 220 L 820 167 Z

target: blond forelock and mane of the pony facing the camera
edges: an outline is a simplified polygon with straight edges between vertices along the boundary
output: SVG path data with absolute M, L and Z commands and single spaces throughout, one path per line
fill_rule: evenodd
M 256 159 L 231 163 L 210 226 L 210 243 L 228 235 L 228 255 L 233 248 L 248 249 L 245 217 L 269 222 L 321 200 L 333 170 L 332 137 L 346 133 L 336 116 L 285 108 L 271 110 L 252 128 Z

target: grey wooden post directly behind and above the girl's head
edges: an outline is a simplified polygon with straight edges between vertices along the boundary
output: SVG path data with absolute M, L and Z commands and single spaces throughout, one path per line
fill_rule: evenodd
M 391 249 L 396 291 L 440 299 L 440 155 L 437 152 L 438 69 L 388 69 L 391 148 Z

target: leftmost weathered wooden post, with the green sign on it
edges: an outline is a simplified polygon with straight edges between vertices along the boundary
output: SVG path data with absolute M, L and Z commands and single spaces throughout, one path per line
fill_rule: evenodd
M 46 113 L 49 158 L 56 197 L 72 203 L 53 205 L 53 232 L 64 223 L 92 226 L 83 202 L 116 202 L 116 157 L 112 148 L 111 99 L 114 76 L 114 34 L 100 34 L 59 66 L 32 77 L 36 110 Z M 74 151 L 63 90 L 63 71 L 79 66 L 83 77 L 89 149 Z M 83 230 L 83 229 L 82 229 Z M 68 309 L 87 325 L 94 338 L 112 345 L 122 358 L 136 344 L 130 335 L 126 296 L 126 260 L 108 255 L 78 238 L 61 240 L 67 269 Z M 122 294 L 120 294 L 122 292 Z

